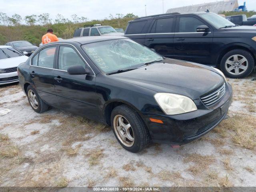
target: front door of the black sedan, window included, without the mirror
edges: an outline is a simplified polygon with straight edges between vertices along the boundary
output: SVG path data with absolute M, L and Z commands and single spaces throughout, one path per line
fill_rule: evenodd
M 89 68 L 88 64 L 84 62 L 72 46 L 60 45 L 56 65 L 57 70 L 53 72 L 59 105 L 70 112 L 97 119 L 99 111 L 95 96 L 96 77 L 92 71 L 90 75 L 68 74 L 68 68 L 74 65 L 82 65 L 84 68 Z

